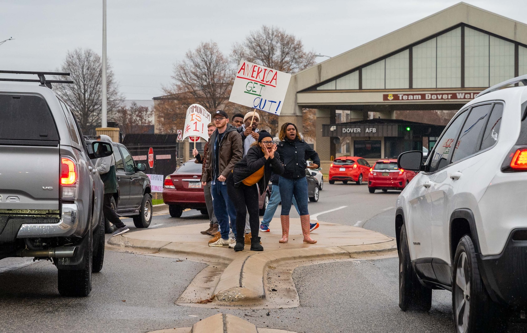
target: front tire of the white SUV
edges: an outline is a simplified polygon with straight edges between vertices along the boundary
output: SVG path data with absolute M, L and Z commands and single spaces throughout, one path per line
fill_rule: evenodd
M 401 228 L 401 248 L 399 249 L 399 308 L 429 311 L 432 307 L 432 289 L 421 285 L 412 267 L 406 228 Z

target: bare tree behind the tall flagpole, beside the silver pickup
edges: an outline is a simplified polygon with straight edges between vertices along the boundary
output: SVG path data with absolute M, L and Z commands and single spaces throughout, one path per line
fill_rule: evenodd
M 93 127 L 101 125 L 102 108 L 102 62 L 92 49 L 76 48 L 68 51 L 60 72 L 70 72 L 75 84 L 54 84 L 54 90 L 71 107 L 82 132 L 88 134 Z M 111 115 L 121 105 L 123 97 L 114 80 L 110 65 L 106 74 L 108 85 L 108 114 Z M 57 77 L 60 79 L 63 77 Z

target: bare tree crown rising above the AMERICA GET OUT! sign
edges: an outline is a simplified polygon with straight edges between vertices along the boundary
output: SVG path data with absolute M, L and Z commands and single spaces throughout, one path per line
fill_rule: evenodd
M 236 64 L 243 59 L 291 74 L 315 65 L 315 53 L 306 52 L 300 39 L 266 25 L 233 45 L 231 58 Z

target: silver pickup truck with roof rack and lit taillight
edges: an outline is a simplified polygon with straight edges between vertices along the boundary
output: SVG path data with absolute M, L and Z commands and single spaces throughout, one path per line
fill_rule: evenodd
M 60 294 L 87 296 L 104 260 L 104 186 L 90 159 L 112 145 L 85 142 L 45 80 L 56 73 L 17 73 L 41 85 L 0 82 L 0 259 L 51 259 Z

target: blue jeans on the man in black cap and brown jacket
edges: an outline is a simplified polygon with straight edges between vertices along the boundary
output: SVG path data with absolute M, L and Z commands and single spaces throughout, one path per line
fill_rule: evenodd
M 216 180 L 216 184 L 210 185 L 210 193 L 214 215 L 220 226 L 221 238 L 229 239 L 229 219 L 232 233 L 236 237 L 236 209 L 227 194 L 227 184 L 221 184 L 221 181 Z

